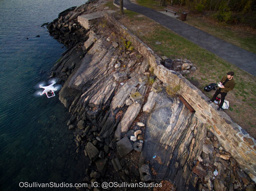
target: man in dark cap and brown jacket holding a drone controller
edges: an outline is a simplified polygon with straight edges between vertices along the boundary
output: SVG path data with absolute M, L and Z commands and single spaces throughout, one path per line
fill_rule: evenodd
M 227 76 L 222 77 L 222 79 L 220 80 L 220 83 L 218 85 L 219 86 L 218 89 L 216 90 L 216 92 L 214 93 L 212 98 L 210 100 L 208 100 L 209 102 L 214 101 L 216 96 L 220 93 L 221 98 L 220 98 L 220 104 L 219 104 L 218 110 L 223 109 L 222 105 L 224 103 L 224 99 L 225 99 L 227 92 L 232 90 L 235 86 L 233 75 L 234 75 L 233 71 L 227 72 Z

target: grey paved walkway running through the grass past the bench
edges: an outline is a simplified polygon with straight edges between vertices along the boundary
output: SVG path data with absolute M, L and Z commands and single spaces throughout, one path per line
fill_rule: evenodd
M 119 4 L 119 0 L 115 0 L 115 3 Z M 134 12 L 141 13 L 157 21 L 161 25 L 180 34 L 186 39 L 196 43 L 197 45 L 212 53 L 215 53 L 222 59 L 227 60 L 228 62 L 236 65 L 244 71 L 247 71 L 248 73 L 256 76 L 255 53 L 237 47 L 185 22 L 182 22 L 179 19 L 172 18 L 154 9 L 131 3 L 129 0 L 123 0 L 123 4 L 125 8 Z

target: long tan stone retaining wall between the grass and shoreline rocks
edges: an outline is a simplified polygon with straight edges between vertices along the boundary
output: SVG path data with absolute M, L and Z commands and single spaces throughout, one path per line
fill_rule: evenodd
M 217 111 L 217 105 L 209 104 L 209 98 L 180 73 L 164 67 L 160 63 L 161 58 L 115 18 L 106 13 L 105 19 L 114 24 L 122 36 L 131 41 L 135 49 L 149 59 L 150 66 L 154 68 L 154 74 L 159 79 L 172 87 L 180 85 L 178 93 L 196 110 L 195 116 L 209 124 L 210 130 L 218 137 L 225 150 L 231 153 L 243 170 L 256 182 L 255 139 L 234 123 L 225 112 Z

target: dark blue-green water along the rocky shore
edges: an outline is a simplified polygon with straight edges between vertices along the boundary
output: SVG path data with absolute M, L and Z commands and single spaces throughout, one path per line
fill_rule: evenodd
M 23 190 L 21 181 L 75 183 L 83 176 L 67 110 L 58 96 L 33 97 L 33 86 L 65 51 L 41 24 L 83 3 L 0 0 L 0 190 Z

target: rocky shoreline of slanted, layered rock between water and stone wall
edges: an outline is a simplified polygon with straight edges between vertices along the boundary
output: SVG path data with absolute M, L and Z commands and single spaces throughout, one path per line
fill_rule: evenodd
M 85 190 L 102 189 L 90 182 L 110 181 L 154 182 L 151 190 L 254 190 L 207 124 L 154 75 L 148 59 L 114 25 L 104 18 L 90 29 L 79 24 L 78 15 L 103 10 L 103 3 L 71 7 L 48 24 L 50 34 L 69 48 L 51 77 L 63 83 L 59 98 L 72 115 L 67 125 L 76 152 L 89 157 Z M 186 73 L 193 64 L 179 59 L 174 67 Z

